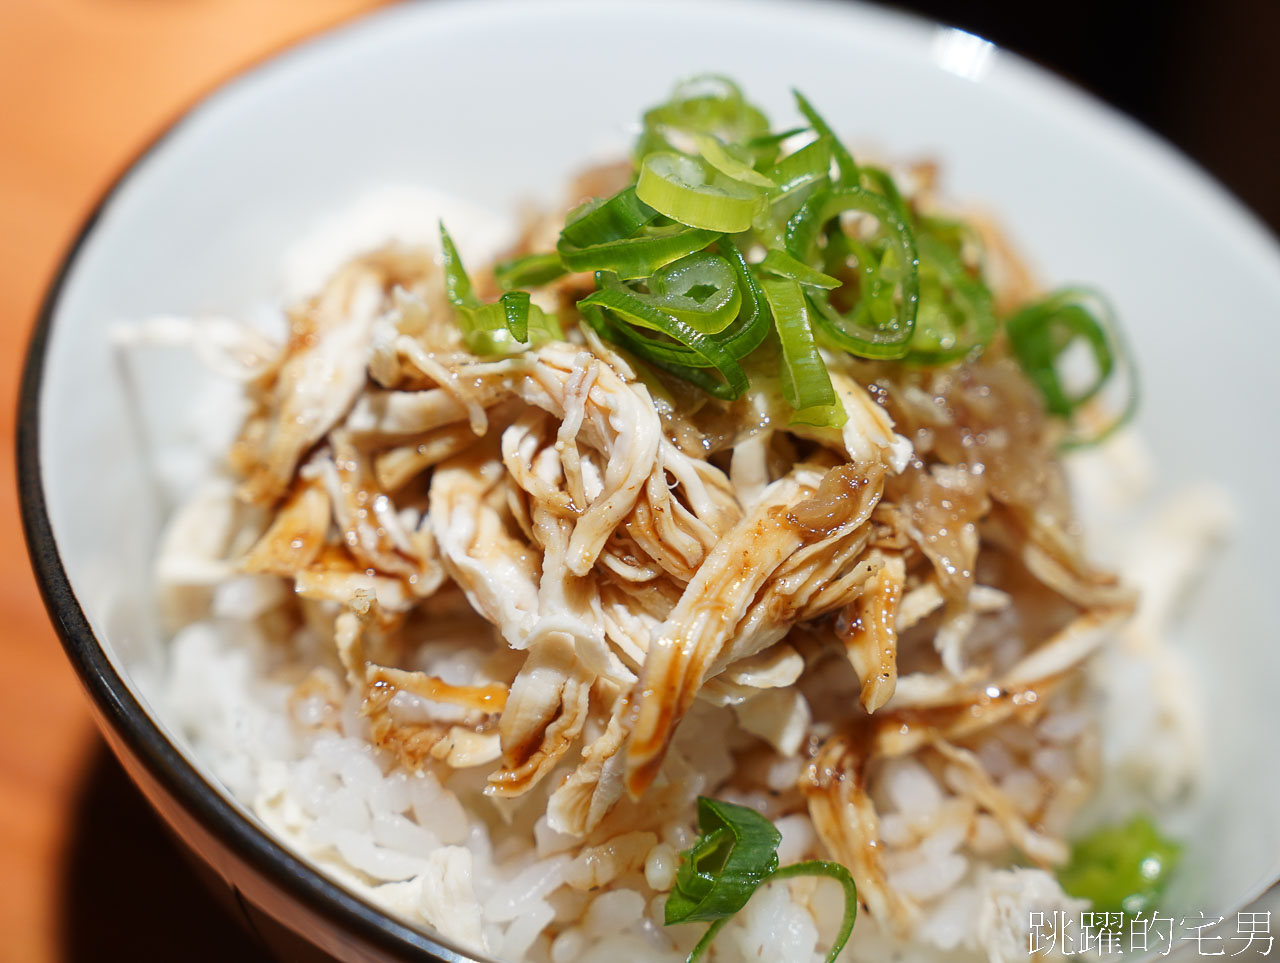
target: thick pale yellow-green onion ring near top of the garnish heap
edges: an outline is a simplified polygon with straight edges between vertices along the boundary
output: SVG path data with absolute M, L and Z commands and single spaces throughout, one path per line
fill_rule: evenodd
M 701 161 L 673 151 L 645 156 L 636 196 L 672 220 L 724 234 L 749 229 L 764 206 L 760 188 L 708 172 Z

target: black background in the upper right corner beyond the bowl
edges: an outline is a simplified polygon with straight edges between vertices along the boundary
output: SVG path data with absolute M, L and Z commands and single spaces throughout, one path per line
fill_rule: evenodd
M 908 0 L 1039 61 L 1189 154 L 1280 233 L 1276 0 Z

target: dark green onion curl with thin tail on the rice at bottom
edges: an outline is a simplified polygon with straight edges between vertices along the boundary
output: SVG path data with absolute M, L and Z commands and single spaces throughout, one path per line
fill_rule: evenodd
M 666 923 L 709 921 L 686 963 L 694 963 L 712 945 L 716 934 L 746 905 L 765 882 L 795 876 L 828 876 L 845 889 L 845 918 L 827 954 L 835 963 L 849 943 L 858 917 L 858 887 L 840 863 L 809 859 L 778 868 L 782 834 L 755 809 L 698 797 L 698 830 L 701 834 L 681 853 L 676 885 L 667 898 Z

